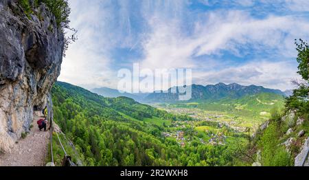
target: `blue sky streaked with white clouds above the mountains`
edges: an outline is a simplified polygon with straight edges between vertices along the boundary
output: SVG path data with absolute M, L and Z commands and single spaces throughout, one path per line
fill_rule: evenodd
M 193 83 L 291 89 L 308 0 L 71 0 L 78 41 L 58 80 L 116 88 L 117 71 L 192 68 Z

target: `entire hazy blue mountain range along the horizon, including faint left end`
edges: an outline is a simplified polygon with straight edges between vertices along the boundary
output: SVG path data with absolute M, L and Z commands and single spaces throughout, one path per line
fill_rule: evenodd
M 190 101 L 201 100 L 221 100 L 224 98 L 242 98 L 245 95 L 255 95 L 258 93 L 275 93 L 277 95 L 288 96 L 290 91 L 282 92 L 278 89 L 268 89 L 262 86 L 250 85 L 243 86 L 237 83 L 226 85 L 222 82 L 216 85 L 191 85 L 192 98 Z M 119 93 L 116 89 L 99 88 L 92 89 L 93 93 L 98 93 L 104 97 L 117 98 L 120 96 L 126 96 L 133 98 L 139 102 L 176 102 L 179 100 L 179 93 L 177 87 L 177 93 L 172 93 L 172 88 L 168 90 L 168 93 L 163 91 L 154 93 Z

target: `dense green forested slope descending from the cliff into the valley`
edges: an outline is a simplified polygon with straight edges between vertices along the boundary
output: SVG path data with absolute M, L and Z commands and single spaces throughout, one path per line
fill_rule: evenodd
M 243 144 L 205 145 L 193 135 L 190 144 L 179 146 L 162 135 L 169 121 L 191 120 L 185 115 L 130 98 L 103 98 L 65 82 L 57 82 L 52 95 L 54 120 L 86 166 L 232 166 L 241 155 Z

